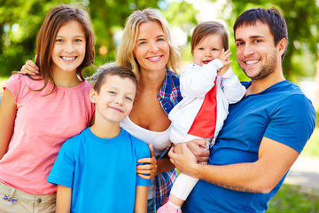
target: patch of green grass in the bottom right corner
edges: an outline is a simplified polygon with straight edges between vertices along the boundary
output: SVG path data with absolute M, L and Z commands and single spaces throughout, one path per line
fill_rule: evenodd
M 319 212 L 319 190 L 284 184 L 268 202 L 268 213 Z

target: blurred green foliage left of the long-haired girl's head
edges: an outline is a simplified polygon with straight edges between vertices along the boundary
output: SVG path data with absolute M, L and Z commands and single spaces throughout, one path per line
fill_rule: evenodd
M 11 75 L 27 59 L 34 59 L 37 32 L 45 15 L 58 3 L 58 0 L 0 0 L 0 75 Z

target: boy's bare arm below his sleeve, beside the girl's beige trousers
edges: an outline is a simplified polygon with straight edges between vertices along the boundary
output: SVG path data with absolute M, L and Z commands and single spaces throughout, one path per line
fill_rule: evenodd
M 70 213 L 72 188 L 58 185 L 56 213 Z

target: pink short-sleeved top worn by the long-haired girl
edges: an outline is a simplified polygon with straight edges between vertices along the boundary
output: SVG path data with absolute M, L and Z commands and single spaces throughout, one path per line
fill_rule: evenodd
M 46 181 L 58 150 L 68 138 L 89 126 L 94 105 L 89 101 L 92 86 L 82 82 L 72 88 L 58 87 L 47 95 L 43 80 L 12 75 L 4 89 L 12 92 L 17 115 L 9 151 L 0 161 L 0 182 L 34 195 L 56 193 L 57 187 Z

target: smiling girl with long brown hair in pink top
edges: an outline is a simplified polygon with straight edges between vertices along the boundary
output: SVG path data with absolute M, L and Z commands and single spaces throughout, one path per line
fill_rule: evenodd
M 60 146 L 89 126 L 92 86 L 82 69 L 94 59 L 89 14 L 61 5 L 36 41 L 38 75 L 12 75 L 0 106 L 0 212 L 54 212 L 46 181 Z

